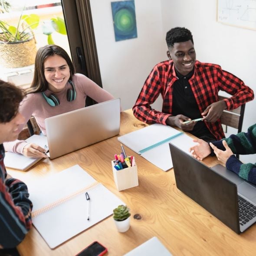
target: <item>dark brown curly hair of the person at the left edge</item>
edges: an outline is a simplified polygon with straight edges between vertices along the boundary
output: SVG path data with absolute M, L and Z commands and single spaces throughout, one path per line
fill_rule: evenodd
M 17 115 L 24 96 L 22 89 L 0 80 L 0 123 L 10 122 Z

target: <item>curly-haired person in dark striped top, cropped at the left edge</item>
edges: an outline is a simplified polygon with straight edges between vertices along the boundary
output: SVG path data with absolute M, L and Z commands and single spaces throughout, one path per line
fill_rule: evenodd
M 32 224 L 26 184 L 7 174 L 3 163 L 3 142 L 16 140 L 18 127 L 24 123 L 19 113 L 24 95 L 15 85 L 0 80 L 0 254 L 7 253 L 3 248 L 17 246 Z

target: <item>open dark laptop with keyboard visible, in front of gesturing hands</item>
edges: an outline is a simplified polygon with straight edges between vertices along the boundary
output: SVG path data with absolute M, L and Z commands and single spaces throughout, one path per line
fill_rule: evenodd
M 238 234 L 256 222 L 256 186 L 220 164 L 207 167 L 173 144 L 169 145 L 179 190 Z

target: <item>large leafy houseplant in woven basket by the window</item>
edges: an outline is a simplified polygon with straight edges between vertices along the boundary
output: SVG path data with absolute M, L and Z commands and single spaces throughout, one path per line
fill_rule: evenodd
M 0 65 L 6 68 L 29 66 L 36 56 L 36 40 L 33 30 L 39 26 L 37 14 L 20 15 L 16 26 L 0 20 Z M 60 17 L 42 23 L 43 34 L 48 36 L 48 43 L 54 44 L 54 31 L 66 35 L 65 22 Z

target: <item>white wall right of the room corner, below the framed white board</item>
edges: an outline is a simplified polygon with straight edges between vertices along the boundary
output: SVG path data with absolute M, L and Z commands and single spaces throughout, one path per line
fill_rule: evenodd
M 256 94 L 256 31 L 217 22 L 217 0 L 161 0 L 163 33 L 185 26 L 193 34 L 197 59 L 216 63 L 242 79 Z M 256 123 L 256 100 L 246 103 L 243 131 Z M 256 156 L 242 156 L 256 162 Z

